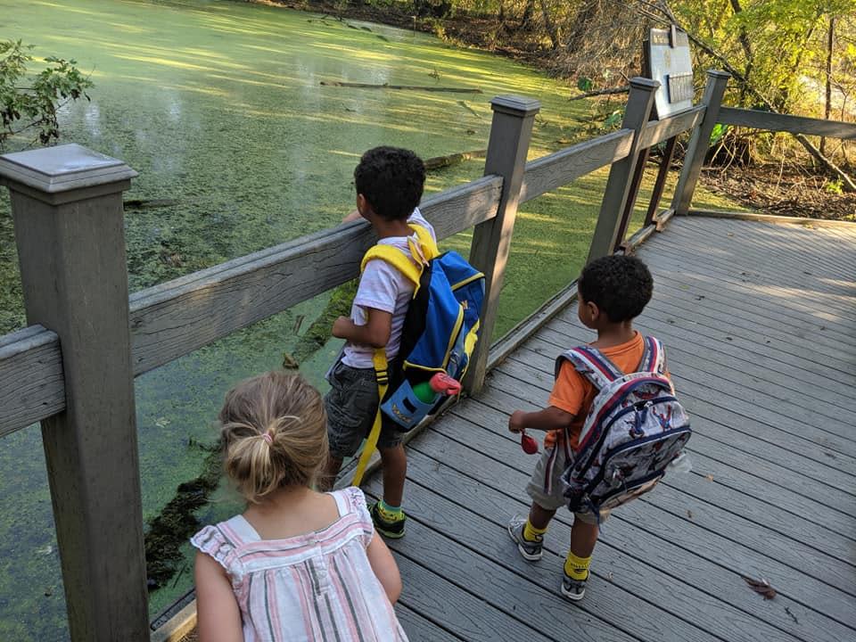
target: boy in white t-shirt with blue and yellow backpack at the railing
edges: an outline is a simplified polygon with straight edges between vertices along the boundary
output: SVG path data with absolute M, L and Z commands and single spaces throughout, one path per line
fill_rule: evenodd
M 424 163 L 414 152 L 376 147 L 354 170 L 359 217 L 378 242 L 366 252 L 350 317 L 333 336 L 346 340 L 327 379 L 325 397 L 332 485 L 344 457 L 359 457 L 358 485 L 376 447 L 383 465 L 383 499 L 370 512 L 382 535 L 404 535 L 401 510 L 407 457 L 401 444 L 438 407 L 457 380 L 476 340 L 484 278 L 455 252 L 440 254 L 433 227 L 417 205 Z

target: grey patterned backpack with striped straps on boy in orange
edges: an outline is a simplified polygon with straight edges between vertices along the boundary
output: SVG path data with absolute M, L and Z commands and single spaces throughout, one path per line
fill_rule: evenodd
M 595 348 L 580 346 L 564 360 L 597 390 L 580 431 L 572 465 L 565 469 L 564 496 L 572 511 L 620 506 L 652 490 L 690 436 L 689 419 L 665 376 L 663 345 L 645 338 L 638 372 L 623 374 Z

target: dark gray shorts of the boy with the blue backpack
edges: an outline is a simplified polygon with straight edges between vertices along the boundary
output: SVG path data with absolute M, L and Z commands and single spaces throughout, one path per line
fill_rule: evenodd
M 336 458 L 353 457 L 371 431 L 377 413 L 374 368 L 355 368 L 340 360 L 330 369 L 327 381 L 330 382 L 330 391 L 324 398 L 324 407 L 327 412 L 330 455 Z M 404 432 L 394 426 L 387 416 L 383 416 L 377 448 L 394 448 L 401 443 Z

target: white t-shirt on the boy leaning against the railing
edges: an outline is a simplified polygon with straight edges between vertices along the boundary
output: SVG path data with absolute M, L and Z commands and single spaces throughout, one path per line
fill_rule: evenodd
M 432 239 L 437 240 L 434 228 L 431 223 L 423 218 L 419 208 L 413 210 L 413 214 L 407 218 L 407 222 L 423 226 L 431 233 Z M 389 236 L 377 243 L 378 245 L 391 245 L 399 248 L 407 256 L 411 256 L 410 247 L 407 243 L 408 238 L 412 238 L 418 243 L 416 234 L 409 237 Z M 372 259 L 366 263 L 366 269 L 363 270 L 363 275 L 359 278 L 357 296 L 354 297 L 354 304 L 350 309 L 350 319 L 355 325 L 366 325 L 368 323 L 366 308 L 391 312 L 392 330 L 390 340 L 386 343 L 386 358 L 390 361 L 399 354 L 401 327 L 404 325 L 404 317 L 407 315 L 407 306 L 413 298 L 413 290 L 414 286 L 406 276 L 381 259 Z M 373 355 L 374 348 L 371 346 L 348 342 L 342 354 L 342 362 L 351 367 L 374 367 Z

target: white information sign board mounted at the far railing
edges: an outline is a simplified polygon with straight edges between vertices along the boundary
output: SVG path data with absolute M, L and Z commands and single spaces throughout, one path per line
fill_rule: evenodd
M 693 106 L 693 64 L 686 31 L 651 29 L 646 41 L 647 76 L 660 82 L 654 95 L 657 118 L 663 119 Z

